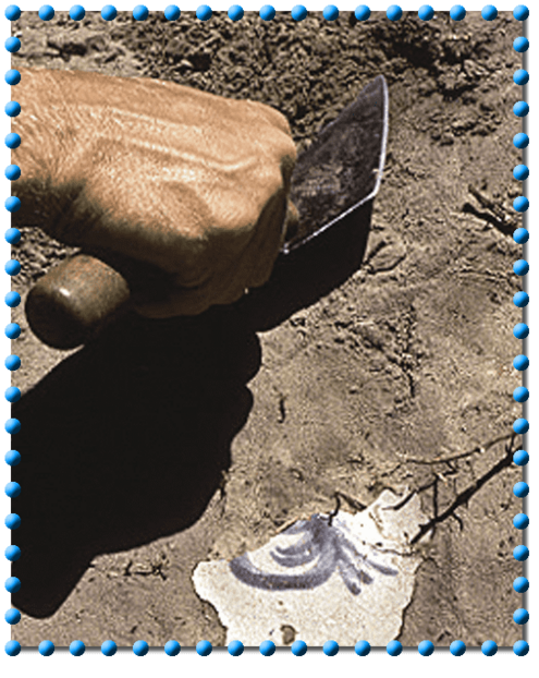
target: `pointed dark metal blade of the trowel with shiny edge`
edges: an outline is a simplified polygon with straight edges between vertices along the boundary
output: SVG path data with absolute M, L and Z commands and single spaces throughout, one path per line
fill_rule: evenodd
M 379 75 L 298 156 L 290 197 L 299 222 L 286 233 L 281 254 L 297 250 L 375 197 L 385 161 L 388 118 L 388 85 Z

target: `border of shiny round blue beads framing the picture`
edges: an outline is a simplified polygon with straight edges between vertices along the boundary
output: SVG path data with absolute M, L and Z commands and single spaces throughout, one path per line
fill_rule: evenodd
M 82 4 L 73 4 L 70 8 L 70 16 L 73 21 L 81 21 L 85 15 L 85 8 Z M 21 8 L 19 4 L 8 4 L 4 9 L 4 17 L 8 22 L 15 21 L 21 15 Z M 146 4 L 136 4 L 133 8 L 133 16 L 137 21 L 145 21 L 148 17 L 148 7 Z M 52 4 L 41 4 L 38 10 L 39 17 L 42 21 L 50 21 L 54 16 L 54 7 Z M 291 14 L 295 21 L 302 21 L 307 16 L 308 9 L 305 4 L 294 4 Z M 451 17 L 453 21 L 462 21 L 466 15 L 466 9 L 463 4 L 453 4 L 450 9 Z M 181 10 L 177 4 L 168 4 L 164 8 L 164 15 L 169 21 L 175 21 L 180 17 Z M 275 15 L 275 8 L 272 4 L 265 3 L 260 8 L 260 17 L 264 21 L 271 21 Z M 421 4 L 418 8 L 418 15 L 424 21 L 430 21 L 434 14 L 434 9 L 431 4 Z M 210 4 L 199 4 L 196 8 L 196 16 L 200 21 L 209 21 L 212 15 L 212 8 Z M 229 7 L 229 17 L 232 21 L 240 21 L 244 15 L 244 8 L 238 3 L 233 3 Z M 367 4 L 358 4 L 355 8 L 355 16 L 358 21 L 367 21 L 370 15 L 370 8 Z M 513 8 L 513 15 L 517 21 L 525 21 L 530 15 L 530 10 L 527 4 L 519 3 Z M 108 3 L 101 7 L 101 16 L 105 21 L 112 21 L 117 16 L 117 8 L 115 5 Z M 323 8 L 323 17 L 327 21 L 334 21 L 339 16 L 339 8 L 335 4 L 326 4 Z M 402 16 L 402 8 L 400 4 L 390 4 L 387 7 L 387 16 L 390 21 L 399 21 Z M 483 4 L 481 8 L 481 16 L 486 21 L 493 21 L 498 16 L 498 8 L 495 4 Z M 530 43 L 524 36 L 517 38 L 513 44 L 514 49 L 517 52 L 526 52 Z M 5 38 L 4 49 L 8 55 L 19 51 L 21 48 L 21 41 L 12 36 Z M 8 69 L 4 73 L 4 82 L 11 88 L 17 85 L 21 80 L 21 75 L 17 71 Z M 530 80 L 530 75 L 525 70 L 519 70 L 514 74 L 514 82 L 517 85 L 524 86 Z M 16 90 L 15 90 L 16 92 Z M 11 89 L 10 89 L 11 93 Z M 515 116 L 519 118 L 525 118 L 530 111 L 529 105 L 524 101 L 517 101 L 513 107 L 513 112 Z M 8 118 L 13 118 L 19 116 L 21 112 L 21 107 L 14 100 L 7 101 L 4 106 L 4 113 Z M 4 145 L 11 150 L 12 148 L 16 148 L 21 144 L 21 137 L 17 134 L 13 134 L 8 132 L 4 136 Z M 513 137 L 513 144 L 518 149 L 525 149 L 530 144 L 530 138 L 524 132 L 515 134 Z M 518 165 L 513 170 L 513 175 L 517 181 L 525 181 L 530 174 L 530 170 L 526 165 Z M 21 175 L 21 170 L 19 167 L 14 165 L 7 165 L 4 169 L 4 178 L 8 181 L 16 181 Z M 21 206 L 21 202 L 19 198 L 8 195 L 4 199 L 4 209 L 9 214 L 16 211 Z M 525 196 L 519 196 L 513 202 L 513 207 L 517 213 L 527 211 L 530 207 L 530 201 Z M 525 244 L 530 239 L 530 233 L 525 228 L 517 229 L 514 232 L 514 240 L 518 244 Z M 16 244 L 21 239 L 21 233 L 17 229 L 8 228 L 4 231 L 4 242 L 9 245 Z M 9 258 L 4 264 L 4 273 L 7 276 L 11 278 L 11 276 L 16 276 L 21 270 L 21 264 Z M 525 276 L 530 270 L 530 265 L 525 259 L 518 259 L 515 262 L 513 266 L 513 271 L 517 276 Z M 17 306 L 21 302 L 21 296 L 17 292 L 9 290 L 4 294 L 4 305 L 8 308 L 12 308 Z M 527 292 L 519 291 L 513 298 L 514 304 L 524 308 L 530 302 L 530 296 Z M 4 327 L 4 336 L 11 341 L 12 339 L 16 339 L 21 334 L 21 328 L 19 325 L 13 323 L 8 323 Z M 530 328 L 525 323 L 518 323 L 513 329 L 514 336 L 523 340 L 530 334 Z M 524 372 L 530 364 L 530 360 L 528 356 L 524 354 L 519 354 L 513 361 L 513 366 L 515 370 Z M 17 355 L 12 355 L 9 353 L 4 360 L 5 370 L 11 373 L 16 371 L 21 366 L 21 360 Z M 513 392 L 513 397 L 515 401 L 519 403 L 526 402 L 530 392 L 524 386 L 519 386 L 515 388 Z M 16 402 L 21 398 L 21 391 L 9 385 L 4 390 L 4 399 L 11 404 Z M 16 419 L 8 417 L 4 422 L 4 431 L 8 435 L 12 436 L 19 433 L 21 429 L 21 422 Z M 530 423 L 526 419 L 518 419 L 513 424 L 513 431 L 515 434 L 524 435 L 528 433 L 530 429 Z M 15 467 L 21 461 L 21 455 L 16 450 L 8 449 L 4 455 L 5 464 L 11 468 Z M 518 450 L 515 452 L 513 457 L 513 461 L 515 464 L 524 467 L 529 462 L 529 455 L 524 450 Z M 515 496 L 519 498 L 524 498 L 529 494 L 530 487 L 527 483 L 520 482 L 517 483 L 513 487 L 513 492 Z M 8 481 L 4 485 L 4 494 L 10 499 L 12 497 L 16 497 L 21 492 L 21 487 L 17 483 L 12 481 Z M 513 519 L 513 524 L 517 530 L 526 529 L 530 523 L 530 519 L 525 513 L 518 513 Z M 8 530 L 15 530 L 21 524 L 21 518 L 16 513 L 7 513 L 4 517 L 4 526 Z M 513 556 L 518 561 L 524 561 L 528 559 L 530 555 L 529 548 L 526 546 L 517 546 L 513 550 Z M 13 561 L 19 559 L 21 556 L 21 550 L 16 545 L 8 544 L 4 548 L 4 559 L 8 561 Z M 513 588 L 517 593 L 526 592 L 530 586 L 530 582 L 524 578 L 517 578 Z M 4 590 L 7 593 L 11 594 L 15 591 L 19 591 L 21 588 L 21 582 L 19 579 L 14 577 L 8 577 L 4 580 Z M 518 608 L 515 610 L 513 615 L 513 620 L 515 623 L 524 625 L 529 620 L 530 615 L 527 609 Z M 21 614 L 15 608 L 9 607 L 4 612 L 4 621 L 8 626 L 15 625 L 20 621 Z M 101 655 L 106 658 L 112 658 L 117 655 L 117 644 L 108 640 L 102 643 L 100 647 Z M 292 656 L 296 658 L 303 658 L 307 655 L 307 645 L 303 641 L 296 641 L 293 643 L 291 647 Z M 365 641 L 359 641 L 355 646 L 355 655 L 359 658 L 366 658 L 370 655 L 370 645 Z M 70 645 L 70 655 L 74 658 L 81 658 L 85 655 L 85 645 L 82 641 L 73 641 Z M 164 654 L 167 657 L 175 658 L 180 655 L 181 646 L 176 641 L 169 641 L 164 645 Z M 387 655 L 391 658 L 397 658 L 401 656 L 403 647 L 399 641 L 390 642 L 387 647 Z M 149 647 L 145 641 L 137 641 L 133 645 L 133 654 L 135 657 L 144 658 L 148 655 Z M 271 641 L 266 641 L 261 643 L 259 647 L 260 656 L 264 658 L 270 658 L 275 654 L 275 646 Z M 454 658 L 461 658 L 465 656 L 466 646 L 462 641 L 454 641 L 450 646 L 450 654 Z M 498 646 L 493 641 L 486 641 L 481 645 L 482 656 L 486 658 L 493 658 L 497 656 Z M 513 653 L 517 658 L 524 658 L 528 656 L 530 652 L 530 645 L 526 641 L 517 641 L 513 645 Z M 21 654 L 21 645 L 16 641 L 8 640 L 4 643 L 4 653 L 10 658 L 16 658 Z M 44 658 L 52 657 L 54 654 L 54 645 L 50 641 L 42 641 L 39 644 L 38 653 Z M 208 641 L 200 641 L 196 646 L 197 656 L 200 658 L 208 658 L 211 656 L 212 646 Z M 243 656 L 244 646 L 240 641 L 233 641 L 228 646 L 228 654 L 232 658 L 240 658 Z M 327 658 L 334 658 L 339 655 L 339 645 L 334 641 L 328 641 L 324 643 L 322 647 L 323 656 Z M 434 645 L 430 641 L 422 641 L 418 645 L 418 654 L 422 658 L 430 658 L 434 653 Z

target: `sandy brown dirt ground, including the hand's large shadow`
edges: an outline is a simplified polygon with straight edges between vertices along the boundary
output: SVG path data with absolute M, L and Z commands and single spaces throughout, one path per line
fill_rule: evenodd
M 301 23 L 287 12 L 265 23 L 246 10 L 234 24 L 224 10 L 207 23 L 194 10 L 175 23 L 162 10 L 146 22 L 119 10 L 107 23 L 87 10 L 76 23 L 57 10 L 45 23 L 24 10 L 11 24 L 22 43 L 11 68 L 161 77 L 262 101 L 287 117 L 299 150 L 377 75 L 390 95 L 363 264 L 277 323 L 262 307 L 253 324 L 240 304 L 127 317 L 90 347 L 49 349 L 28 329 L 24 299 L 72 250 L 21 228 L 11 287 L 23 303 L 11 320 L 22 332 L 10 348 L 22 361 L 11 375 L 23 391 L 11 414 L 22 423 L 11 440 L 22 494 L 10 509 L 22 518 L 12 603 L 23 614 L 10 629 L 21 645 L 223 645 L 216 609 L 194 590 L 198 562 L 257 548 L 336 497 L 353 512 L 384 488 L 419 492 L 440 517 L 396 640 L 522 638 L 512 586 L 522 470 L 506 449 L 522 416 L 512 361 L 525 352 L 512 334 L 522 24 L 511 10 L 493 22 L 468 10 L 460 23 L 449 10 L 430 22 L 404 10 L 396 23 L 373 10 L 365 24 L 353 10 L 332 23 L 321 10 Z

